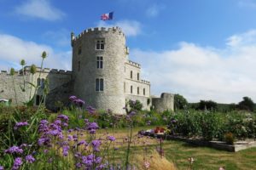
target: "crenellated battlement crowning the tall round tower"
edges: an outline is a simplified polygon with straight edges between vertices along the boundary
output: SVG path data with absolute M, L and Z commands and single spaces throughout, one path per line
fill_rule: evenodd
M 122 37 L 125 37 L 124 32 L 118 26 L 110 27 L 110 28 L 96 27 L 96 28 L 86 29 L 86 30 L 82 31 L 78 36 L 75 36 L 74 33 L 72 32 L 71 33 L 71 42 L 75 42 L 75 41 L 79 40 L 79 38 L 83 37 L 86 34 L 97 33 L 97 32 L 101 32 L 101 31 L 102 32 L 112 32 L 112 33 L 119 34 Z

